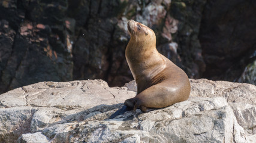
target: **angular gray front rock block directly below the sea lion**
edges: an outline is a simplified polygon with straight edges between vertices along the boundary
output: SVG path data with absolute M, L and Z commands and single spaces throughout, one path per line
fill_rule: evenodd
M 75 130 L 79 132 L 71 135 L 85 135 L 76 141 L 88 142 L 125 142 L 131 137 L 134 142 L 246 142 L 224 98 L 190 98 L 150 113 L 90 121 Z

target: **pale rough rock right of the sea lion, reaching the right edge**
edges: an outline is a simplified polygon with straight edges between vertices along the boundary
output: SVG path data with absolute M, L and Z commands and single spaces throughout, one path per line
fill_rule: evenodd
M 191 97 L 223 97 L 247 135 L 256 134 L 256 86 L 248 83 L 191 79 Z

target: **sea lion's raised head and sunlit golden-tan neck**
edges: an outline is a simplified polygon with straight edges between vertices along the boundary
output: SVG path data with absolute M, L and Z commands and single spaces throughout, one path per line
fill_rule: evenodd
M 129 20 L 127 27 L 131 39 L 125 48 L 125 57 L 132 76 L 136 80 L 140 78 L 138 75 L 146 73 L 150 67 L 153 67 L 152 64 L 159 64 L 159 60 L 161 63 L 162 57 L 156 49 L 156 37 L 153 30 L 134 20 Z

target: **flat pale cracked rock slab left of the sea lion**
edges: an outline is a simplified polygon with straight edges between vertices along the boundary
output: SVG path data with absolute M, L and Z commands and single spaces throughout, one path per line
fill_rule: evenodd
M 134 96 L 134 92 L 125 89 L 109 88 L 103 80 L 40 82 L 2 94 L 0 106 L 92 108 L 100 104 L 117 104 Z

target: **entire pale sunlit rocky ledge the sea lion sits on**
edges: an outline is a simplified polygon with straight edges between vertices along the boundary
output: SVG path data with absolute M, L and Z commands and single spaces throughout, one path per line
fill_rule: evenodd
M 108 119 L 135 82 L 40 82 L 0 95 L 0 142 L 254 142 L 256 86 L 190 80 L 187 101 Z

